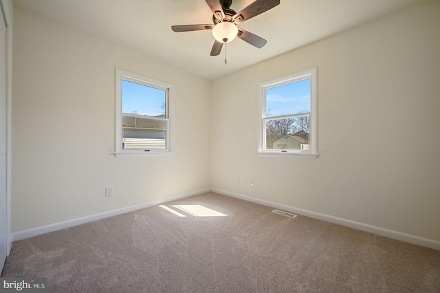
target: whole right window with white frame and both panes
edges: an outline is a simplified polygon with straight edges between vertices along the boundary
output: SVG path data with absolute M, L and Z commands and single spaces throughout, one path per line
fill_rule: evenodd
M 316 158 L 316 68 L 260 87 L 259 155 Z

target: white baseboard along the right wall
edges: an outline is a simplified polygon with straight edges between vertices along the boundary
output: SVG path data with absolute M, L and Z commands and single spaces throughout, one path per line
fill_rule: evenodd
M 367 224 L 362 224 L 356 221 L 350 221 L 348 219 L 342 219 L 342 218 L 338 218 L 338 217 L 333 217 L 333 216 L 329 216 L 329 215 L 324 215 L 324 214 L 320 214 L 320 213 L 315 213 L 315 212 L 311 212 L 310 210 L 303 210 L 302 208 L 294 208 L 293 206 L 287 206 L 285 204 L 277 204 L 276 202 L 269 202 L 267 200 L 264 199 L 258 199 L 255 197 L 249 197 L 246 195 L 239 195 L 236 193 L 230 193 L 228 191 L 222 191 L 219 190 L 217 188 L 211 188 L 211 191 L 214 193 L 219 193 L 221 195 L 228 195 L 230 197 L 235 197 L 238 199 L 243 199 L 245 201 L 248 202 L 254 202 L 256 204 L 263 204 L 264 206 L 270 206 L 272 208 L 278 208 L 280 210 L 286 210 L 288 212 L 291 213 L 297 213 L 299 215 L 305 215 L 307 217 L 311 217 L 314 219 L 320 219 L 322 221 L 328 221 L 330 223 L 333 224 L 338 224 L 338 225 L 342 225 L 342 226 L 347 226 L 347 227 L 351 227 L 351 228 L 355 228 L 357 230 L 362 230 L 365 232 L 370 232 L 376 235 L 381 235 L 384 237 L 388 237 L 391 239 L 396 239 L 396 240 L 400 240 L 400 241 L 405 241 L 408 243 L 412 243 L 412 244 L 416 244 L 419 246 L 423 246 L 423 247 L 427 247 L 427 248 L 432 248 L 435 250 L 440 250 L 440 241 L 435 241 L 432 239 L 426 239 L 426 238 L 422 238 L 422 237 L 418 237 L 418 236 L 414 236 L 414 235 L 409 235 L 409 234 L 405 234 L 405 233 L 401 233 L 401 232 L 397 232 L 397 231 L 393 231 L 393 230 L 388 230 L 388 229 L 384 229 L 384 228 L 380 228 L 380 227 L 376 227 L 376 226 L 371 226 L 371 225 L 367 225 Z

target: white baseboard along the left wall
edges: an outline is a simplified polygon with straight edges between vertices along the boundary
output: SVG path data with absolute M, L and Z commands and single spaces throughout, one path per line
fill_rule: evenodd
M 124 213 L 133 212 L 135 210 L 140 210 L 142 208 L 149 208 L 151 206 L 157 206 L 158 204 L 164 204 L 166 202 L 173 202 L 174 200 L 177 200 L 177 199 L 182 199 L 182 198 L 190 197 L 193 195 L 199 195 L 201 193 L 208 193 L 210 191 L 211 191 L 210 188 L 206 188 L 206 189 L 202 189 L 200 191 L 194 191 L 192 193 L 178 195 L 176 197 L 170 197 L 170 198 L 166 198 L 166 199 L 157 200 L 155 202 L 146 202 L 144 204 L 137 204 L 135 206 L 127 206 L 125 208 L 118 208 L 117 210 L 109 210 L 108 212 L 104 212 L 104 213 L 89 215 L 86 217 L 80 217 L 80 218 L 71 219 L 68 221 L 62 221 L 59 223 L 50 224 L 47 226 L 36 227 L 36 228 L 32 228 L 32 229 L 24 230 L 24 231 L 20 231 L 20 232 L 14 232 L 14 233 L 12 233 L 11 238 L 12 238 L 12 241 L 18 241 L 18 240 L 42 235 L 45 233 L 54 232 L 57 230 L 63 230 L 65 228 L 86 224 L 91 221 L 97 221 L 100 219 L 105 219 L 108 217 L 113 217 L 113 216 L 121 215 Z

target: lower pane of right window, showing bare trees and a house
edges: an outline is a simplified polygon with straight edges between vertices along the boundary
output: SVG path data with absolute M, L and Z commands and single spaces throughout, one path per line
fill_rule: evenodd
M 265 121 L 266 149 L 309 151 L 310 116 Z

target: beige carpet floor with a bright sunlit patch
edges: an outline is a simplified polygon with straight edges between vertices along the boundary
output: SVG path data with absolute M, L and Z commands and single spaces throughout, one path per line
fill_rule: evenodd
M 440 292 L 437 250 L 215 193 L 164 206 L 16 241 L 2 276 L 50 292 Z

